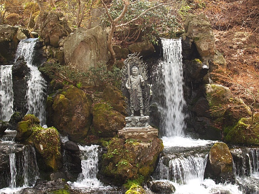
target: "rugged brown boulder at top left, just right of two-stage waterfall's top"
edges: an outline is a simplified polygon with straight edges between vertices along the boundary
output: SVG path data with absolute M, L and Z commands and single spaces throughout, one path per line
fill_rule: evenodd
M 60 12 L 40 12 L 39 35 L 44 39 L 46 45 L 59 46 L 59 39 L 72 32 L 64 15 Z

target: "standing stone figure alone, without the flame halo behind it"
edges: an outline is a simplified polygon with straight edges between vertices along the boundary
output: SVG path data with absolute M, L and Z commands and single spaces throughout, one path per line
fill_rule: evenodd
M 143 117 L 143 96 L 141 85 L 144 86 L 144 79 L 139 75 L 139 69 L 137 66 L 132 68 L 132 75 L 128 77 L 125 84 L 126 88 L 130 92 L 131 102 L 131 117 L 134 116 L 134 111 L 140 111 L 140 116 Z

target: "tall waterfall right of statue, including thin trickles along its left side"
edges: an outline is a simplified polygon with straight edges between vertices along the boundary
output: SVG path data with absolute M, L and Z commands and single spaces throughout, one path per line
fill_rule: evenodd
M 154 99 L 162 110 L 162 136 L 183 136 L 186 128 L 183 92 L 183 63 L 181 39 L 161 39 L 163 61 L 153 72 Z M 158 91 L 156 91 L 158 89 Z

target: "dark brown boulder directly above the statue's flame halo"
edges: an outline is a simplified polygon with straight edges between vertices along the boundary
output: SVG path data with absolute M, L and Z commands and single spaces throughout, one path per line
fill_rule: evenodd
M 140 53 L 140 56 L 142 56 L 143 58 L 152 56 L 155 53 L 155 48 L 153 44 L 150 43 L 148 40 L 128 45 L 128 50 L 132 54 Z

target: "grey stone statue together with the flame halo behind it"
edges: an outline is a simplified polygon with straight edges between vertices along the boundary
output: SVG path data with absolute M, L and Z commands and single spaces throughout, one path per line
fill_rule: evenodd
M 125 87 L 130 93 L 130 115 L 135 116 L 136 112 L 140 112 L 140 116 L 143 117 L 143 90 L 145 86 L 145 80 L 147 80 L 146 64 L 140 60 L 138 53 L 128 55 L 128 58 L 124 61 L 124 73 L 126 82 Z

